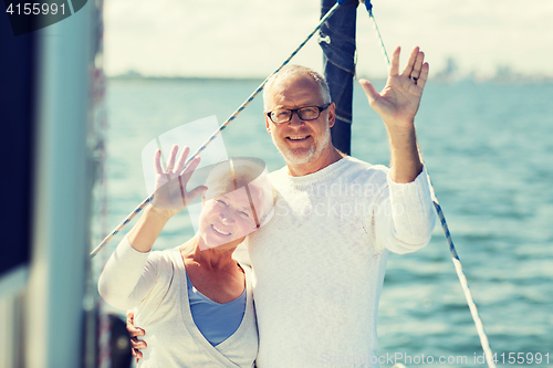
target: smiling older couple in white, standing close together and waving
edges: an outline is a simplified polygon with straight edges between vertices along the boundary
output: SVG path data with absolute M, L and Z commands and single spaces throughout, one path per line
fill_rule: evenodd
M 150 252 L 182 208 L 164 204 L 170 190 L 156 191 L 98 285 L 107 303 L 135 307 L 147 345 L 137 353 L 139 367 L 378 367 L 371 358 L 388 252 L 422 248 L 435 224 L 414 125 L 428 63 L 415 48 L 399 72 L 399 53 L 382 93 L 359 81 L 386 125 L 390 169 L 333 147 L 326 82 L 292 65 L 263 95 L 267 132 L 286 162 L 270 175 L 272 191 L 255 185 L 252 162 L 216 168 L 207 188 L 184 190 L 187 201 L 204 193 L 195 238 Z M 159 182 L 182 169 L 187 151 L 177 159 L 177 150 L 166 174 L 157 154 Z M 182 175 L 185 188 L 197 164 Z M 327 190 L 337 182 L 352 190 Z M 268 201 L 274 215 L 260 227 Z M 232 259 L 242 242 L 251 270 Z

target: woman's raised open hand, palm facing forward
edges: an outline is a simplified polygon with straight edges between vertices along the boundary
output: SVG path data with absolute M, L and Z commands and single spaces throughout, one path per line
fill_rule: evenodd
M 207 190 L 205 186 L 196 187 L 190 191 L 186 189 L 194 170 L 200 164 L 200 158 L 196 157 L 182 171 L 189 151 L 190 149 L 185 147 L 177 160 L 178 146 L 173 146 L 165 171 L 161 167 L 161 151 L 158 149 L 154 156 L 155 192 L 152 206 L 164 210 L 169 217 L 182 210 L 187 203 Z

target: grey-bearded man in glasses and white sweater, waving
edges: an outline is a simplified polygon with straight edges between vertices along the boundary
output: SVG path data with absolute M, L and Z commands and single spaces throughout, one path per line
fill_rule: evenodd
M 335 106 L 316 72 L 270 78 L 267 130 L 286 166 L 271 174 L 273 219 L 246 240 L 254 273 L 259 368 L 378 367 L 376 317 L 389 251 L 430 240 L 435 212 L 414 118 L 428 77 L 415 48 L 399 73 L 397 48 L 382 93 L 365 80 L 390 143 L 390 169 L 340 153 Z

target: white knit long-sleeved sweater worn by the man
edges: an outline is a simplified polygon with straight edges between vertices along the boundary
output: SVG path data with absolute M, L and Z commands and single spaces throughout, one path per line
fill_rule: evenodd
M 378 367 L 376 316 L 388 251 L 430 240 L 426 172 L 395 183 L 352 157 L 314 174 L 271 175 L 274 218 L 248 236 L 259 326 L 257 366 Z

